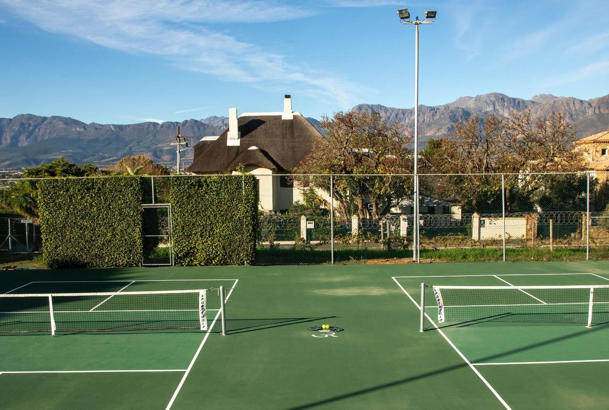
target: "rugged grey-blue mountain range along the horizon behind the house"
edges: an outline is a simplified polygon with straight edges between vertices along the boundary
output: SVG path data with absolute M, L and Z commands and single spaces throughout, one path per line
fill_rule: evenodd
M 378 104 L 360 104 L 356 111 L 381 113 L 388 122 L 404 122 L 414 129 L 414 108 L 391 108 Z M 454 123 L 474 114 L 509 115 L 512 111 L 530 109 L 533 118 L 551 111 L 565 113 L 566 120 L 585 137 L 609 130 L 609 94 L 590 100 L 540 94 L 530 100 L 491 92 L 482 96 L 460 97 L 437 106 L 419 106 L 420 141 L 448 136 Z M 315 126 L 316 119 L 308 120 Z M 175 146 L 170 145 L 177 127 L 183 135 L 200 137 L 219 135 L 228 127 L 227 117 L 207 117 L 182 122 L 143 122 L 128 125 L 86 124 L 69 117 L 41 117 L 19 114 L 0 118 L 0 168 L 19 169 L 52 161 L 60 156 L 77 164 L 91 163 L 108 167 L 127 155 L 147 155 L 157 162 L 175 164 Z M 192 150 L 182 153 L 183 164 L 192 161 Z

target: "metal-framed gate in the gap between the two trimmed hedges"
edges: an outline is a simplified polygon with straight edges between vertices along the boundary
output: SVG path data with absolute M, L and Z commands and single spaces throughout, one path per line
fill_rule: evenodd
M 142 266 L 173 266 L 171 204 L 142 205 Z

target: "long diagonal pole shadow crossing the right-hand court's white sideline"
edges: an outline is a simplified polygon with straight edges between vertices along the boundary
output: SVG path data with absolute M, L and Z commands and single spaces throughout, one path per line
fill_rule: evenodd
M 546 340 L 543 342 L 533 343 L 533 344 L 530 344 L 529 346 L 519 347 L 518 349 L 508 350 L 507 352 L 498 353 L 496 355 L 486 356 L 486 357 L 483 357 L 483 358 L 477 360 L 477 362 L 484 363 L 485 361 L 495 360 L 495 359 L 501 358 L 503 356 L 511 355 L 512 353 L 524 352 L 526 350 L 535 349 L 536 347 L 547 346 L 547 345 L 555 343 L 555 342 L 560 342 L 560 341 L 563 341 L 566 339 L 576 338 L 576 337 L 582 336 L 582 335 L 590 335 L 591 332 L 596 332 L 597 330 L 603 330 L 603 329 L 604 329 L 604 327 L 586 328 L 586 330 L 582 330 L 581 332 L 577 332 L 577 333 L 572 333 L 571 335 L 560 336 L 558 338 Z M 341 394 L 341 395 L 337 395 L 334 397 L 325 398 L 323 400 L 313 401 L 311 403 L 307 403 L 307 404 L 301 405 L 301 406 L 290 407 L 287 410 L 303 410 L 303 409 L 314 408 L 314 407 L 321 406 L 321 405 L 328 405 L 330 403 L 335 403 L 336 401 L 340 401 L 345 398 L 357 397 L 362 394 L 367 394 L 367 393 L 371 393 L 371 392 L 378 391 L 381 389 L 386 389 L 387 387 L 400 386 L 401 384 L 406 384 L 406 383 L 410 383 L 411 381 L 421 380 L 426 377 L 440 375 L 440 374 L 443 374 L 446 372 L 450 372 L 451 370 L 462 369 L 463 367 L 469 367 L 469 365 L 465 362 L 460 363 L 460 364 L 454 364 L 453 366 L 443 367 L 442 369 L 432 370 L 431 372 L 421 373 L 421 374 L 418 374 L 415 376 L 391 381 L 389 383 L 377 384 L 376 386 L 371 386 L 371 387 L 368 387 L 367 389 L 361 389 L 361 390 L 357 390 L 357 391 L 350 392 L 347 394 Z

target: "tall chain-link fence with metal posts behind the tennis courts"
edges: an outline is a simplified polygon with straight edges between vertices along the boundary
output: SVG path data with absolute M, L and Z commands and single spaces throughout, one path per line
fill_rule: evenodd
M 174 263 L 172 178 L 141 179 L 143 265 Z M 260 265 L 609 257 L 609 173 L 419 175 L 416 197 L 413 175 L 256 178 Z M 0 218 L 0 263 L 41 255 L 35 201 L 10 203 L 35 186 L 0 181 L 4 208 L 23 211 Z

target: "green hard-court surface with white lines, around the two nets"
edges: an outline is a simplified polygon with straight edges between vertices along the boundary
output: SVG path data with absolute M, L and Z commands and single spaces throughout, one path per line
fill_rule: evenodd
M 434 325 L 428 288 L 421 333 L 421 282 L 609 285 L 609 262 L 3 271 L 0 293 L 224 285 L 228 302 L 226 336 L 216 291 L 208 331 L 0 333 L 0 408 L 607 408 L 609 325 Z

